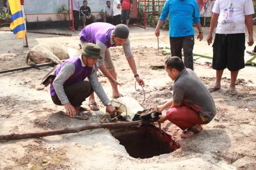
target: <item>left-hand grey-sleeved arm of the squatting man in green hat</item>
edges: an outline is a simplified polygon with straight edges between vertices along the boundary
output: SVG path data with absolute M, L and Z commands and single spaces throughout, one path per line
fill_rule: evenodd
M 75 66 L 72 63 L 65 63 L 61 68 L 59 74 L 56 76 L 56 78 L 53 81 L 53 87 L 56 92 L 56 95 L 58 96 L 61 104 L 64 105 L 68 116 L 71 116 L 71 117 L 75 117 L 76 110 L 72 106 L 72 104 L 69 103 L 68 97 L 64 91 L 63 84 L 74 73 L 75 73 Z

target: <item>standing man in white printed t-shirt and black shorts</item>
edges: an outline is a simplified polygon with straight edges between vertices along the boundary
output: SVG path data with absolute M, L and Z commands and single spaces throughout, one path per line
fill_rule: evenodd
M 231 75 L 229 95 L 236 95 L 236 79 L 238 71 L 245 67 L 245 25 L 248 29 L 249 46 L 253 45 L 253 16 L 252 0 L 216 0 L 212 9 L 210 20 L 208 45 L 212 43 L 212 33 L 216 27 L 213 42 L 212 67 L 216 70 L 216 83 L 210 92 L 219 90 L 221 76 L 224 69 L 228 68 Z

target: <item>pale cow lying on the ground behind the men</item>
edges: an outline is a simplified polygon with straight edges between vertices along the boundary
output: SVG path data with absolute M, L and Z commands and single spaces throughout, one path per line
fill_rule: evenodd
M 67 48 L 61 44 L 41 43 L 31 48 L 31 50 L 27 53 L 25 62 L 27 64 L 29 58 L 30 61 L 36 64 L 50 61 L 59 64 L 62 63 L 62 59 L 79 56 L 79 54 L 79 50 Z

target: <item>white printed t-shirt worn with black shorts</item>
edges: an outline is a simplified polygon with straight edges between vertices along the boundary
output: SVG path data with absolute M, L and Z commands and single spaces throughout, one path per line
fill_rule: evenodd
M 245 33 L 245 15 L 254 14 L 252 0 L 216 0 L 212 12 L 219 14 L 216 33 Z

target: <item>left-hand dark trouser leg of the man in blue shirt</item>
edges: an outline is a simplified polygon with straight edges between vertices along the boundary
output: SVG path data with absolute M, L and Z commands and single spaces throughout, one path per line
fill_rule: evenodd
M 170 46 L 172 56 L 180 57 L 182 60 L 181 49 L 182 49 L 182 37 L 170 37 Z

